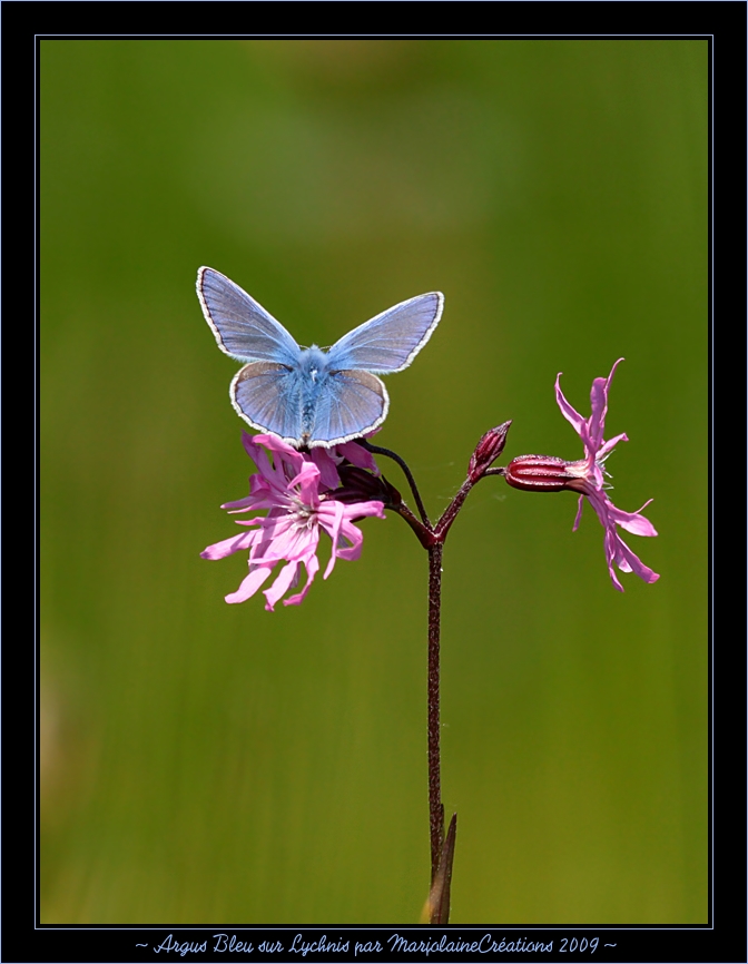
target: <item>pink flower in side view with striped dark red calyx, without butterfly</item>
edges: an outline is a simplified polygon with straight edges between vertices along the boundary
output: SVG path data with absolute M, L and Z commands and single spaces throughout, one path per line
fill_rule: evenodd
M 512 460 L 505 470 L 506 481 L 515 489 L 545 492 L 572 489 L 580 492 L 579 509 L 573 524 L 574 532 L 579 528 L 579 522 L 582 518 L 584 498 L 589 499 L 606 530 L 606 559 L 608 560 L 610 578 L 616 589 L 619 589 L 621 592 L 623 592 L 623 587 L 616 574 L 613 563 L 621 572 L 636 572 L 644 582 L 657 582 L 660 578 L 657 572 L 644 565 L 639 557 L 629 549 L 616 528 L 620 525 L 621 529 L 633 532 L 636 535 L 657 535 L 657 530 L 652 523 L 641 514 L 642 510 L 652 500 L 650 499 L 649 502 L 644 502 L 637 512 L 623 512 L 622 509 L 617 509 L 613 505 L 606 492 L 607 483 L 604 482 L 604 475 L 608 474 L 604 468 L 606 459 L 619 442 L 629 441 L 623 433 L 616 435 L 614 439 L 610 439 L 608 442 L 603 439 L 606 415 L 608 413 L 608 392 L 610 391 L 616 368 L 622 361 L 623 358 L 619 358 L 616 362 L 607 378 L 596 378 L 592 382 L 592 414 L 589 419 L 582 419 L 579 412 L 569 404 L 559 384 L 561 374 L 557 376 L 555 397 L 559 407 L 564 419 L 574 426 L 577 434 L 582 440 L 584 444 L 584 459 L 581 459 L 579 462 L 564 462 L 561 459 L 549 455 L 522 455 L 519 459 Z

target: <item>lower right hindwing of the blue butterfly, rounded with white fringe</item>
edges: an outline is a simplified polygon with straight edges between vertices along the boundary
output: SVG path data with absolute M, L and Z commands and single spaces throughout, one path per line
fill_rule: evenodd
M 381 425 L 388 407 L 387 391 L 376 375 L 331 373 L 317 399 L 309 444 L 329 446 L 357 439 Z

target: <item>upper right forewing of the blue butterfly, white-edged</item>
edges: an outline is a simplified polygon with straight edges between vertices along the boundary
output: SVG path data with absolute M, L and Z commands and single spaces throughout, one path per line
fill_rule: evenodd
M 443 305 L 444 296 L 431 292 L 382 312 L 333 345 L 331 368 L 363 368 L 380 375 L 402 372 L 431 337 Z

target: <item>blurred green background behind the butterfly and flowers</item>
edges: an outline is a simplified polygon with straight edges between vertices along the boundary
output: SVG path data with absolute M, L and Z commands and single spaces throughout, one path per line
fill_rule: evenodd
M 490 426 L 579 459 L 626 357 L 608 577 L 486 480 L 446 545 L 452 923 L 707 918 L 707 42 L 41 42 L 42 922 L 406 923 L 429 882 L 426 557 L 366 520 L 227 606 L 252 463 L 199 265 L 302 344 L 439 289 L 378 436 L 433 515 Z M 385 466 L 403 488 L 395 466 Z

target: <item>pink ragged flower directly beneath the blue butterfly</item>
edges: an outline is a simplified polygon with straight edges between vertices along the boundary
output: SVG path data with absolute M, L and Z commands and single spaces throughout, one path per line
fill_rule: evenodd
M 365 515 L 384 519 L 384 505 L 378 501 L 344 504 L 333 498 L 333 492 L 325 491 L 329 486 L 325 485 L 323 474 L 328 482 L 337 480 L 339 484 L 336 466 L 347 451 L 341 455 L 325 452 L 322 458 L 312 459 L 276 435 L 253 437 L 245 432 L 243 442 L 258 471 L 249 478 L 249 495 L 237 502 L 227 502 L 222 509 L 228 509 L 232 514 L 267 509 L 267 515 L 237 520 L 239 525 L 253 527 L 253 531 L 208 545 L 200 554 L 204 559 L 223 559 L 249 550 L 249 574 L 236 592 L 226 597 L 226 602 L 249 599 L 276 563 L 285 562 L 273 586 L 264 590 L 265 609 L 272 612 L 282 596 L 298 584 L 302 564 L 306 569 L 304 589 L 284 599 L 284 606 L 297 606 L 309 591 L 319 570 L 317 548 L 321 529 L 327 532 L 333 543 L 324 574 L 327 579 L 336 559 L 358 559 L 361 555 L 364 537 L 353 522 Z M 364 453 L 363 449 L 361 451 Z M 267 453 L 272 453 L 273 461 Z M 355 458 L 356 453 L 353 454 Z

